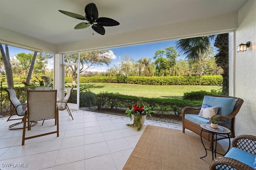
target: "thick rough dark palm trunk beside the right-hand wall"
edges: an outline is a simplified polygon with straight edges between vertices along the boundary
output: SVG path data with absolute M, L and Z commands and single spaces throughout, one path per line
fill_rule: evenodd
M 218 47 L 219 51 L 219 53 L 214 56 L 215 62 L 218 66 L 220 66 L 223 69 L 222 94 L 228 96 L 228 33 L 219 34 L 215 39 L 214 46 Z

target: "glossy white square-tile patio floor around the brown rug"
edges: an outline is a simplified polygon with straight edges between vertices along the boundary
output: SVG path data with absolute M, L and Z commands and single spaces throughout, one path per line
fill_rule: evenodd
M 59 111 L 60 135 L 56 133 L 25 140 L 22 129 L 9 130 L 15 121 L 0 119 L 0 169 L 15 170 L 121 170 L 136 146 L 146 125 L 155 125 L 182 130 L 181 125 L 146 121 L 141 131 L 128 127 L 130 118 L 72 111 L 74 120 L 67 111 Z M 54 119 L 39 121 L 26 131 L 33 134 L 54 131 Z M 220 143 L 224 148 L 227 142 Z

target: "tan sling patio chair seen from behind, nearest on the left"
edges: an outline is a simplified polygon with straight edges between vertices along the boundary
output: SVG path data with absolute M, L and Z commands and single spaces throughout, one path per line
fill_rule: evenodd
M 56 104 L 57 90 L 28 90 L 27 105 L 28 108 L 24 115 L 24 127 L 22 135 L 22 145 L 26 139 L 41 137 L 57 133 L 59 136 L 59 119 L 58 106 Z M 27 119 L 26 119 L 27 117 Z M 56 131 L 43 133 L 39 135 L 26 137 L 26 121 L 28 122 L 28 131 L 31 129 L 31 124 L 34 121 L 55 118 Z

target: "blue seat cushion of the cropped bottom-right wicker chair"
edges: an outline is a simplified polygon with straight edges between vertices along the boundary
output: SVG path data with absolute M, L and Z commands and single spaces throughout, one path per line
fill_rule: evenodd
M 244 164 L 249 165 L 252 168 L 255 160 L 255 155 L 250 154 L 249 152 L 246 152 L 242 149 L 238 149 L 236 147 L 231 148 L 225 155 L 225 157 L 239 160 L 240 162 L 243 162 Z

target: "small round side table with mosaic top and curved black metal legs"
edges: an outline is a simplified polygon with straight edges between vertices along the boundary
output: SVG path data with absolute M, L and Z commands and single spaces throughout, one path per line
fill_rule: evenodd
M 204 142 L 202 140 L 202 132 L 207 132 L 207 133 L 212 133 L 212 148 L 211 149 L 206 149 L 206 147 L 204 146 L 204 149 L 205 149 L 205 152 L 206 152 L 206 155 L 205 156 L 202 156 L 200 158 L 204 158 L 207 156 L 207 150 L 210 150 L 212 152 L 212 160 L 214 160 L 214 154 L 215 154 L 215 158 L 216 158 L 216 153 L 218 153 L 216 151 L 216 146 L 217 146 L 217 141 L 215 142 L 215 148 L 214 148 L 214 139 L 216 138 L 216 134 L 220 135 L 220 136 L 224 136 L 224 137 L 228 137 L 228 140 L 229 140 L 229 146 L 228 146 L 228 150 L 230 149 L 230 130 L 226 127 L 223 127 L 223 126 L 218 126 L 218 129 L 214 129 L 211 127 L 211 124 L 210 123 L 203 123 L 200 125 L 200 127 L 202 127 L 202 130 L 201 130 L 201 141 L 202 141 L 202 144 L 204 146 Z M 226 151 L 226 153 L 228 152 L 228 150 Z M 225 154 L 226 154 L 225 153 Z M 220 153 L 218 153 L 220 154 Z M 225 154 L 220 154 L 222 156 L 224 156 Z

